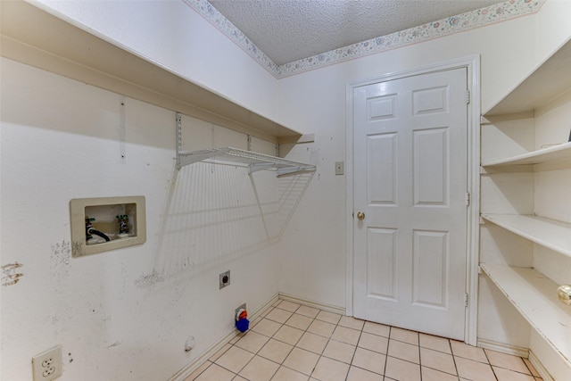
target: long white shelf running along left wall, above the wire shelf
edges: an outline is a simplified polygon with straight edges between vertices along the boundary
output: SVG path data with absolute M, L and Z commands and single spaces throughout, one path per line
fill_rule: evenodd
M 33 4 L 0 1 L 0 16 L 0 54 L 5 58 L 272 143 L 295 142 L 302 136 L 160 62 Z

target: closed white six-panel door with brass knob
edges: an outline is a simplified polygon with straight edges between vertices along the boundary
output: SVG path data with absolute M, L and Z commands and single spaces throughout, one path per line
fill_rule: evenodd
M 353 89 L 355 317 L 464 339 L 467 126 L 465 68 Z

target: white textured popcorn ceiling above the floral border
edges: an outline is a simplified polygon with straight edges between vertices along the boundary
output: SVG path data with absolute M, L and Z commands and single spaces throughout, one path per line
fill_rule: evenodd
M 498 0 L 211 0 L 281 65 L 475 11 Z

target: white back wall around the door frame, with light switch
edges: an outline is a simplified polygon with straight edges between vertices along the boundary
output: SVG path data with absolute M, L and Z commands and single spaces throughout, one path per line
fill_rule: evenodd
M 280 277 L 280 292 L 346 305 L 345 224 L 352 217 L 345 211 L 345 178 L 335 176 L 335 162 L 346 154 L 348 83 L 480 54 L 481 108 L 486 111 L 571 37 L 569 14 L 571 3 L 548 1 L 534 15 L 280 79 L 279 120 L 315 134 L 315 143 L 297 145 L 288 157 L 318 164 L 314 183 L 279 246 L 280 268 L 290 275 Z M 479 313 L 484 316 L 492 305 L 484 300 Z M 515 333 L 498 336 L 493 327 L 501 322 L 492 318 L 480 320 L 479 337 L 505 342 L 524 327 L 518 322 L 512 325 Z

